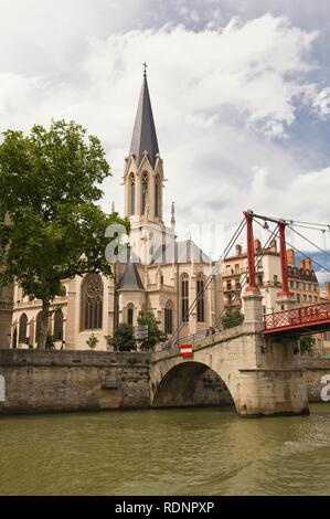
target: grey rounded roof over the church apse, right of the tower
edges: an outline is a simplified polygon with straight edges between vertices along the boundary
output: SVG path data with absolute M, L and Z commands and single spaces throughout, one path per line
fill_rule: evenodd
M 161 245 L 151 260 L 155 263 L 210 263 L 211 258 L 192 240 Z

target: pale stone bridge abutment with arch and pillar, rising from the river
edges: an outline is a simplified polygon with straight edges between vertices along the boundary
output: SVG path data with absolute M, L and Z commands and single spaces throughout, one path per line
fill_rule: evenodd
M 239 416 L 308 414 L 308 395 L 295 338 L 264 336 L 262 296 L 244 296 L 239 327 L 193 343 L 193 357 L 179 349 L 152 354 L 150 400 L 153 407 L 196 405 L 205 373 L 221 379 Z

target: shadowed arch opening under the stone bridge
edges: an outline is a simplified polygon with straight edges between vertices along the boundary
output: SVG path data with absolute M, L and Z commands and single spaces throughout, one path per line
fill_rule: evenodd
M 155 388 L 153 407 L 235 405 L 221 375 L 203 362 L 171 367 Z

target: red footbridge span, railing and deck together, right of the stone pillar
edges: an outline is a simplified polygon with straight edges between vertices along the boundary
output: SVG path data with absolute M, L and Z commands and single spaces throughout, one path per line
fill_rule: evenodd
M 304 336 L 330 331 L 330 303 L 264 316 L 265 335 Z

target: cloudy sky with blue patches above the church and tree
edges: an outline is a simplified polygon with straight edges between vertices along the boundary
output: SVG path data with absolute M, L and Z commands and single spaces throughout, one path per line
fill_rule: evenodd
M 0 130 L 73 118 L 98 135 L 104 208 L 123 210 L 146 61 L 182 237 L 210 222 L 228 235 L 248 208 L 330 223 L 329 0 L 0 0 Z

